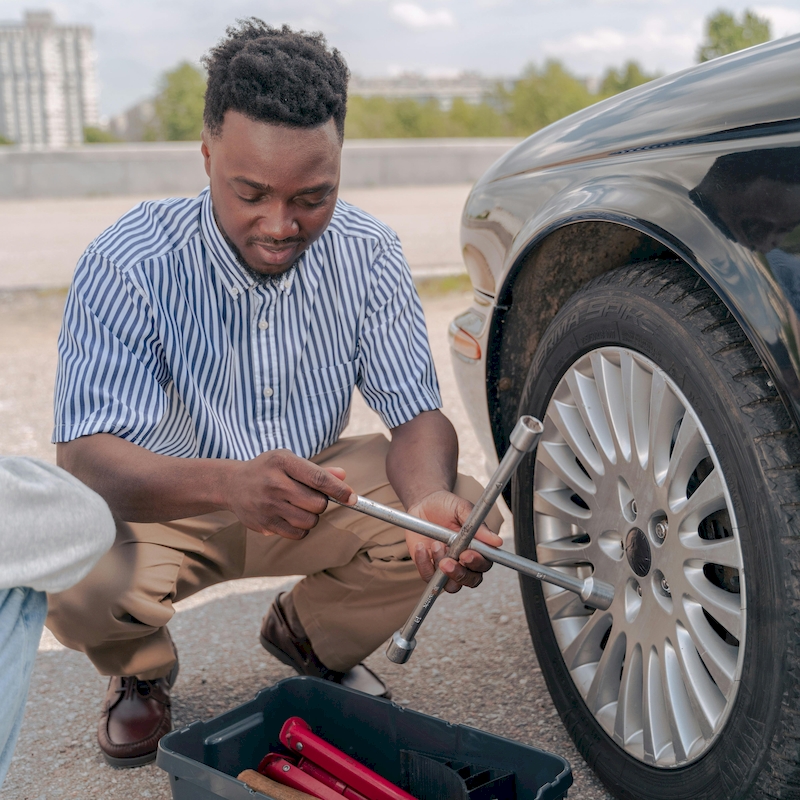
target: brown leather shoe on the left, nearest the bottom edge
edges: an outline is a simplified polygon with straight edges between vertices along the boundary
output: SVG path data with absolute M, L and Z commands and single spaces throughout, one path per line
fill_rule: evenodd
M 169 693 L 177 677 L 175 662 L 166 678 L 109 680 L 97 742 L 112 767 L 141 767 L 155 761 L 161 737 L 172 730 Z

